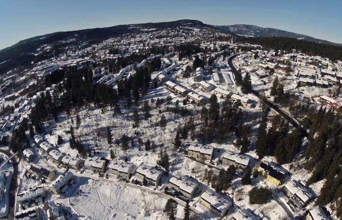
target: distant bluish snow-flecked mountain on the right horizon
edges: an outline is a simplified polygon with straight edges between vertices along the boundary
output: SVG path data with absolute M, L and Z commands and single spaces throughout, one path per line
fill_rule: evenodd
M 214 25 L 215 26 L 215 25 Z M 316 39 L 304 34 L 297 34 L 289 31 L 279 30 L 275 28 L 269 27 L 258 27 L 256 25 L 249 24 L 234 24 L 234 25 L 223 25 L 223 26 L 215 26 L 220 28 L 221 30 L 230 31 L 237 35 L 243 35 L 246 37 L 291 37 L 299 40 L 305 40 L 315 43 L 321 44 L 331 44 L 335 46 L 342 46 L 342 44 L 332 43 L 329 41 Z

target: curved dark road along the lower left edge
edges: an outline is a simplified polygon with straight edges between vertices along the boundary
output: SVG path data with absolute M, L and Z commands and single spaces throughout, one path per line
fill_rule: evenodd
M 2 154 L 6 154 L 8 157 L 12 156 L 12 153 L 4 150 L 4 149 L 0 149 L 0 153 Z M 16 160 L 15 157 L 12 158 L 13 161 L 13 177 L 12 177 L 12 181 L 11 181 L 11 185 L 10 185 L 10 193 L 9 193 L 9 207 L 10 207 L 10 212 L 8 214 L 8 220 L 12 220 L 14 219 L 15 213 L 14 213 L 14 205 L 15 205 L 15 199 L 16 199 L 16 194 L 17 194 L 17 190 L 18 190 L 18 162 Z

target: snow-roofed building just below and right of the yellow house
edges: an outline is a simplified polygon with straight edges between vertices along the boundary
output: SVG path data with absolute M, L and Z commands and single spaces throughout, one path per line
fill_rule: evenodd
M 314 196 L 305 185 L 306 184 L 302 184 L 300 181 L 291 180 L 285 184 L 283 189 L 284 194 L 290 199 L 290 202 L 298 208 L 306 206 L 314 199 Z

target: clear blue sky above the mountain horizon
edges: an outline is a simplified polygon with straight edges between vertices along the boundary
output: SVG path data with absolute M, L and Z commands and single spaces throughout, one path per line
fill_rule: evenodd
M 342 43 L 342 0 L 0 0 L 0 49 L 57 31 L 181 19 L 254 24 Z

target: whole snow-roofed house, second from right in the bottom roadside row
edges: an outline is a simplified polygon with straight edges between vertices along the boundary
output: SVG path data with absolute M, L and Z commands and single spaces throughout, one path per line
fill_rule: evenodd
M 225 216 L 233 210 L 233 203 L 212 189 L 205 191 L 201 195 L 199 202 L 220 217 Z

